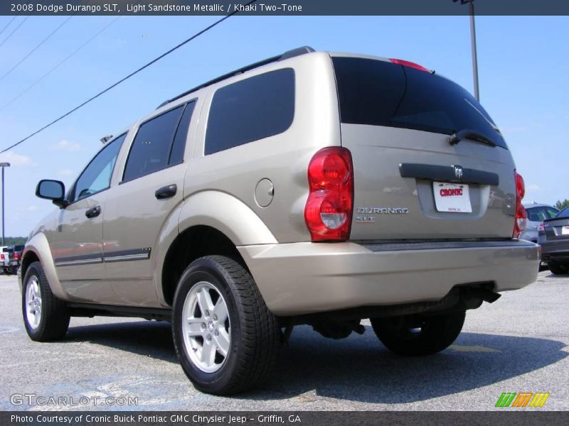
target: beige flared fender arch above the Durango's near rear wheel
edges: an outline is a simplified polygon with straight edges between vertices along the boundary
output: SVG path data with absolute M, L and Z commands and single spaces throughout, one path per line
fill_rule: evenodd
M 223 232 L 235 246 L 277 244 L 275 236 L 247 204 L 220 191 L 203 191 L 182 204 L 178 229 L 206 225 Z

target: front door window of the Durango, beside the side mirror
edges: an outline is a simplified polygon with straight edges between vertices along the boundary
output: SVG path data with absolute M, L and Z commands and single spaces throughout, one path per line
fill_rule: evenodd
M 115 168 L 117 155 L 126 137 L 127 134 L 124 133 L 115 138 L 95 155 L 75 182 L 72 201 L 81 200 L 95 192 L 106 190 L 110 186 L 112 170 Z

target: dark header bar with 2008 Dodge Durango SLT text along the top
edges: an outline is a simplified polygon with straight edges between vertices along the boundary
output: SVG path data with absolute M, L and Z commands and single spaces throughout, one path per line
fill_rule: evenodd
M 119 16 L 119 15 L 228 15 L 245 16 L 466 16 L 465 0 L 5 0 L 0 15 Z M 474 0 L 473 0 L 474 1 Z M 569 15 L 567 0 L 476 0 L 477 16 Z

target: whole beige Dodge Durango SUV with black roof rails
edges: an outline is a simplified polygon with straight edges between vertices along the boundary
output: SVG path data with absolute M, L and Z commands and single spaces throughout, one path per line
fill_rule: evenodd
M 105 145 L 31 232 L 26 331 L 70 317 L 171 322 L 199 390 L 246 391 L 292 327 L 369 319 L 435 354 L 465 312 L 536 280 L 524 184 L 484 108 L 406 60 L 298 48 L 161 104 Z

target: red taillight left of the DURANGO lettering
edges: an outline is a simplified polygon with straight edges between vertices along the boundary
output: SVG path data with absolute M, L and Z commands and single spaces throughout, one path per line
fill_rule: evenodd
M 308 165 L 309 195 L 304 207 L 312 241 L 345 241 L 353 212 L 353 166 L 346 148 L 324 148 Z

